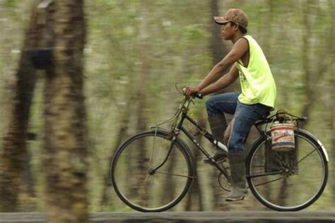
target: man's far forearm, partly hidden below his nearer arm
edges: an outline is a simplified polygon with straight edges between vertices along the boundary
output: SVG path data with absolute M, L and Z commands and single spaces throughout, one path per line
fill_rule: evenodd
M 238 78 L 238 70 L 236 66 L 232 66 L 230 71 L 225 74 L 222 78 L 218 79 L 215 83 L 208 85 L 206 88 L 201 90 L 199 93 L 201 95 L 209 95 L 213 92 L 221 90 L 223 88 L 228 87 L 231 85 L 236 79 Z

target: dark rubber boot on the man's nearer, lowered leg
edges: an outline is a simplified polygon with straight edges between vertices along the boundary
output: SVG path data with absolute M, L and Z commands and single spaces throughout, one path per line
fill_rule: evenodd
M 245 178 L 245 152 L 228 152 L 231 174 L 231 192 L 227 201 L 243 200 L 247 196 L 247 181 Z

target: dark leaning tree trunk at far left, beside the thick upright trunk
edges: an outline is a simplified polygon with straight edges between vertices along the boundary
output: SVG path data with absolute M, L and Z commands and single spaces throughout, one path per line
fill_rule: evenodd
M 25 41 L 16 71 L 15 95 L 4 145 L 0 151 L 0 211 L 18 211 L 18 195 L 25 167 L 27 148 L 25 144 L 30 115 L 30 104 L 36 83 L 35 69 L 30 64 L 24 49 L 37 47 L 40 25 L 37 24 L 35 6 L 31 12 L 30 24 L 25 32 Z

